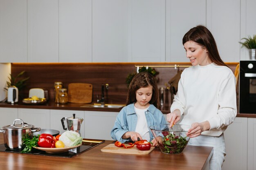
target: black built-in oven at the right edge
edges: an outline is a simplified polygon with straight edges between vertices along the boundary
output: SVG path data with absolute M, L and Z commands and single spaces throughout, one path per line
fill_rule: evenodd
M 256 113 L 256 60 L 240 61 L 239 113 Z

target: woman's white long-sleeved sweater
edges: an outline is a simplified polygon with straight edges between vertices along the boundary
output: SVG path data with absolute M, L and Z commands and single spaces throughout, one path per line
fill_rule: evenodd
M 236 118 L 236 78 L 226 66 L 191 66 L 182 72 L 171 112 L 179 109 L 180 124 L 209 121 L 202 135 L 220 136 Z

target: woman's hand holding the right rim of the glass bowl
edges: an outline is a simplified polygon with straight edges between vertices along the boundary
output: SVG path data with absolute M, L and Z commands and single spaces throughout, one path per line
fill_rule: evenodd
M 197 137 L 201 135 L 203 131 L 209 130 L 209 129 L 210 129 L 209 121 L 204 121 L 202 123 L 196 122 L 191 125 L 191 128 L 189 129 L 186 135 L 189 137 Z

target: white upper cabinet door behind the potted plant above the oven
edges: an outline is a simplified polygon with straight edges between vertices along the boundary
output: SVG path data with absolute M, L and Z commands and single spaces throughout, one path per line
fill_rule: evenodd
M 248 38 L 256 35 L 256 0 L 241 0 L 241 35 L 240 38 Z M 244 40 L 240 40 L 244 42 Z M 245 47 L 240 50 L 240 60 L 249 60 L 249 50 Z

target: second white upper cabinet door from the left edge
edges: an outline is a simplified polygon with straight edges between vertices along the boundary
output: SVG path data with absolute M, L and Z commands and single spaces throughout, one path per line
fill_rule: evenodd
M 28 62 L 58 62 L 58 0 L 27 0 Z

